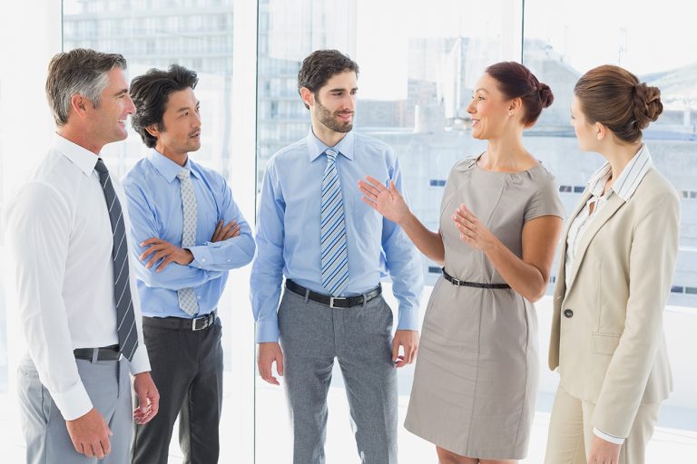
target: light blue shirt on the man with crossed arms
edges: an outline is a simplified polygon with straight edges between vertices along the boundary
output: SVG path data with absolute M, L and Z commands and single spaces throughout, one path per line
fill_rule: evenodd
M 177 297 L 177 290 L 189 287 L 199 302 L 199 312 L 194 316 L 211 313 L 218 306 L 228 271 L 249 264 L 254 256 L 250 226 L 232 199 L 225 179 L 191 159 L 184 168 L 191 169 L 196 195 L 196 246 L 189 247 L 193 261 L 188 266 L 170 263 L 162 272 L 156 272 L 157 265 L 146 269 L 148 260 L 141 261 L 137 256 L 147 249 L 140 244 L 152 237 L 182 246 L 182 194 L 177 174 L 183 168 L 151 150 L 123 179 L 132 225 L 132 253 L 140 264 L 133 271 L 138 279 L 142 314 L 146 316 L 191 318 L 179 307 Z M 220 220 L 225 224 L 237 221 L 240 235 L 210 242 Z

